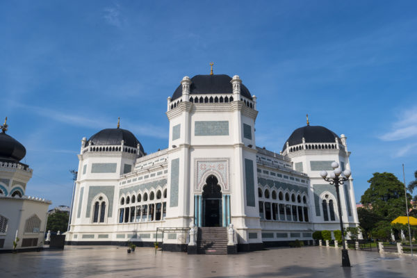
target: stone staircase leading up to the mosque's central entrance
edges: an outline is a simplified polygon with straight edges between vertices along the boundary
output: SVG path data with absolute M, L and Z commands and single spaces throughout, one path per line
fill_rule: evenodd
M 227 254 L 227 227 L 198 228 L 197 254 Z

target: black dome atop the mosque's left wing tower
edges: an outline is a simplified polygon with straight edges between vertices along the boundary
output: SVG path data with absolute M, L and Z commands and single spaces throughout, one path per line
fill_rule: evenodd
M 139 144 L 140 152 L 145 154 L 139 140 L 133 135 L 133 133 L 126 129 L 103 129 L 91 136 L 90 139 L 88 139 L 88 142 L 90 142 L 93 146 L 120 145 L 122 144 L 122 140 L 124 140 L 124 145 L 128 147 L 136 148 Z

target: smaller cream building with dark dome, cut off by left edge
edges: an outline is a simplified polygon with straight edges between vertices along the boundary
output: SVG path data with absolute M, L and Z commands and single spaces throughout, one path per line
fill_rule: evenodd
M 33 170 L 20 161 L 26 155 L 22 143 L 8 135 L 7 117 L 0 126 L 0 252 L 42 247 L 50 201 L 27 196 Z

